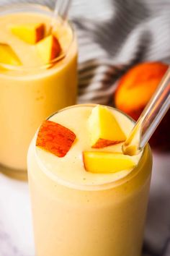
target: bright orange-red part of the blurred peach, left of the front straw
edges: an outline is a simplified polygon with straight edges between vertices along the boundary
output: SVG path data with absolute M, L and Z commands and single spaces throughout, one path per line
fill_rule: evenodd
M 161 62 L 141 63 L 130 69 L 118 83 L 115 106 L 137 120 L 167 69 Z

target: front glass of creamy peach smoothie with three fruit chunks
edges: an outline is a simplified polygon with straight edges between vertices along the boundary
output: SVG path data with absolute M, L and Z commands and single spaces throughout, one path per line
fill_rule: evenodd
M 27 156 L 36 256 L 140 256 L 152 158 L 148 145 L 122 154 L 133 125 L 87 104 L 38 129 Z

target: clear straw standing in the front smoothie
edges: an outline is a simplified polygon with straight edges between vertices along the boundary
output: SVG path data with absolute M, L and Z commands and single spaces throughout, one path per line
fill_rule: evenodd
M 135 155 L 142 150 L 153 135 L 170 106 L 170 66 L 160 82 L 151 101 L 140 115 L 122 151 L 126 155 Z

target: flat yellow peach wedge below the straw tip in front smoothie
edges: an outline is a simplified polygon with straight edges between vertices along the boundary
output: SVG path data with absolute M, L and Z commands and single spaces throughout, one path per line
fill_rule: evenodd
M 131 170 L 135 162 L 129 155 L 112 152 L 84 151 L 84 168 L 94 174 Z

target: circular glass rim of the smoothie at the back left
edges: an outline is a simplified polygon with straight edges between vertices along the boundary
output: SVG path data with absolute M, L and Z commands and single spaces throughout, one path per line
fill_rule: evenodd
M 27 9 L 30 8 L 30 9 Z M 15 4 L 6 4 L 3 7 L 0 7 L 0 17 L 5 16 L 6 14 L 15 14 L 17 12 L 33 12 L 33 13 L 48 13 L 48 14 L 53 14 L 53 9 L 51 9 L 48 6 L 42 5 L 42 4 L 32 4 L 32 3 L 15 3 Z M 62 22 L 62 18 L 60 17 L 61 22 Z M 65 21 L 68 26 L 71 28 L 71 33 L 72 33 L 72 38 L 71 38 L 71 43 L 69 44 L 68 48 L 66 51 L 64 51 L 62 54 L 60 54 L 60 56 L 56 57 L 55 59 L 53 59 L 52 61 L 49 61 L 47 64 L 40 64 L 37 65 L 35 67 L 23 67 L 21 66 L 14 66 L 14 65 L 10 65 L 10 64 L 4 64 L 0 62 L 0 66 L 4 69 L 7 69 L 7 71 L 11 71 L 11 72 L 24 72 L 24 71 L 35 71 L 37 69 L 50 69 L 50 67 L 53 67 L 55 64 L 57 64 L 59 61 L 62 61 L 63 59 L 66 58 L 72 44 L 73 41 L 75 39 L 75 33 L 74 33 L 74 29 L 73 29 L 73 25 L 71 23 L 71 21 L 66 20 Z M 0 72 L 0 75 L 9 75 L 6 72 Z

